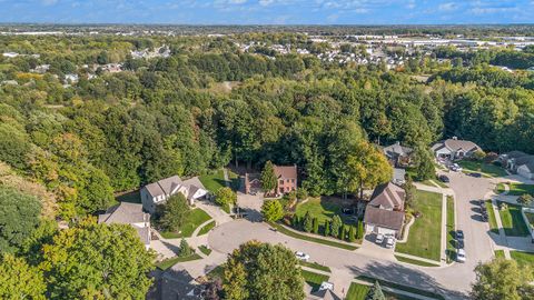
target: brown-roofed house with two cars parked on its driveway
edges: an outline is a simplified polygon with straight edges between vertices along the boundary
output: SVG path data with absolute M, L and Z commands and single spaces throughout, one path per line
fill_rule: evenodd
M 400 238 L 404 226 L 405 191 L 392 182 L 376 187 L 365 209 L 366 233 Z

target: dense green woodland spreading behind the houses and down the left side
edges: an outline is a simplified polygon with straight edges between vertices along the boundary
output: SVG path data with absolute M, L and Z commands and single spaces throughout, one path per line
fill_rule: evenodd
M 254 34 L 317 47 L 297 33 Z M 169 46 L 169 58 L 129 54 L 162 44 Z M 58 218 L 83 220 L 60 234 L 49 222 L 28 221 L 26 237 L 0 243 L 0 252 L 22 253 L 30 264 L 42 266 L 39 272 L 48 274 L 49 288 L 41 292 L 50 298 L 97 294 L 83 289 L 83 277 L 75 277 L 79 289 L 55 284 L 72 274 L 55 269 L 50 260 L 61 260 L 68 247 L 78 247 L 76 240 L 91 243 L 98 236 L 109 244 L 126 242 L 128 249 L 130 240 L 113 240 L 113 231 L 132 234 L 127 228 L 108 229 L 82 218 L 113 204 L 113 193 L 164 177 L 207 173 L 230 162 L 260 169 L 270 160 L 296 163 L 310 194 L 346 194 L 387 180 L 374 172 L 390 173 L 374 144 L 414 147 L 418 163 L 429 161 L 429 144 L 452 136 L 486 151 L 534 153 L 534 76 L 488 66 L 525 67 L 534 56 L 530 49 L 515 54 L 438 49 L 435 57 L 456 63 L 438 66 L 435 58 L 415 56 L 397 71 L 326 63 L 312 54 L 243 53 L 231 38 L 14 36 L 0 38 L 0 50 L 28 54 L 0 58 L 0 81 L 18 83 L 0 87 L 0 160 L 52 192 Z M 110 62 L 123 63 L 126 70 L 97 70 L 88 79 L 91 70 L 83 64 Z M 50 64 L 47 73 L 30 72 L 43 63 Z M 68 73 L 78 73 L 79 82 L 63 86 Z M 422 82 L 415 76 L 429 79 Z M 4 191 L 4 198 L 13 192 Z M 40 206 L 19 197 L 34 220 Z M 30 236 L 32 243 L 24 243 Z M 142 268 L 131 272 L 148 269 L 149 257 L 140 260 Z M 10 263 L 26 264 L 16 258 Z M 138 284 L 146 290 L 149 282 Z

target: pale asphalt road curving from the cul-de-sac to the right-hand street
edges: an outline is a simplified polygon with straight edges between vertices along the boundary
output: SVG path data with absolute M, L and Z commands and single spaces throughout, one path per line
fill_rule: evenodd
M 447 299 L 463 299 L 475 280 L 473 269 L 478 261 L 491 260 L 493 248 L 488 236 L 488 226 L 479 220 L 472 200 L 482 199 L 492 186 L 488 179 L 477 179 L 461 173 L 448 174 L 451 188 L 456 198 L 456 223 L 465 233 L 466 263 L 454 263 L 447 267 L 428 268 L 380 260 L 338 248 L 294 239 L 275 232 L 261 222 L 237 220 L 224 223 L 211 231 L 208 237 L 211 249 L 229 253 L 239 244 L 256 239 L 264 242 L 281 243 L 294 251 L 305 251 L 313 261 L 325 264 L 333 272 L 347 277 L 367 274 L 384 280 L 435 291 Z M 347 281 L 348 280 L 348 281 Z M 345 281 L 349 282 L 350 278 Z M 348 289 L 348 287 L 344 287 Z

